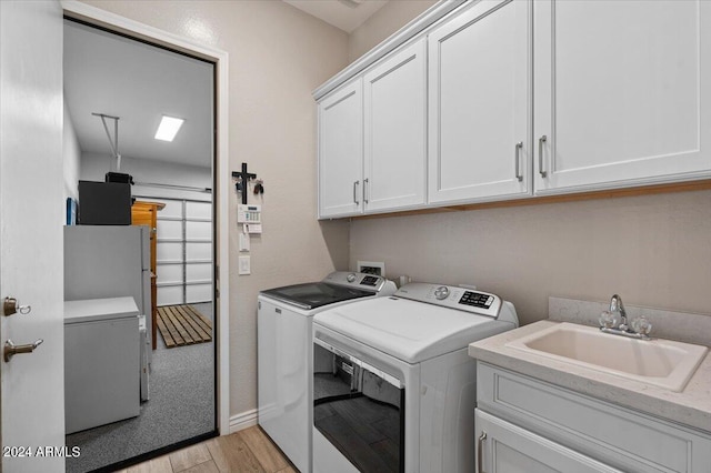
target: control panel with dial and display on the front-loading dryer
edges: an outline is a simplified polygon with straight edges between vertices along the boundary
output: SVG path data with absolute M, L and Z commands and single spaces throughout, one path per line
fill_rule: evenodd
M 502 304 L 501 298 L 489 292 L 423 282 L 403 285 L 394 295 L 492 318 L 499 315 Z

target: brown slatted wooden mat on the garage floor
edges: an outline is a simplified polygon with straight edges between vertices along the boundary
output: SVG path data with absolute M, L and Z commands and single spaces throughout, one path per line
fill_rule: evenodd
M 212 322 L 192 305 L 158 308 L 158 330 L 169 349 L 212 341 Z

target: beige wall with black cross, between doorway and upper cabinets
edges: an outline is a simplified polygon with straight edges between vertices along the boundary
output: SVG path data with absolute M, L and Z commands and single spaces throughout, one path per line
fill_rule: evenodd
M 348 265 L 348 222 L 317 221 L 316 104 L 311 91 L 348 63 L 348 36 L 282 1 L 88 0 L 229 54 L 229 165 L 264 180 L 264 233 L 252 274 L 239 276 L 238 197 L 230 189 L 230 410 L 257 407 L 257 294 Z

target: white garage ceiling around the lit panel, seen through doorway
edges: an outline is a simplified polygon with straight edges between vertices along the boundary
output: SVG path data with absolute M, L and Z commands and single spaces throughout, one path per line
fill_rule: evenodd
M 120 117 L 119 153 L 210 167 L 212 64 L 64 20 L 64 100 L 82 152 L 112 155 L 99 117 Z M 186 120 L 153 139 L 163 114 Z M 111 137 L 113 121 L 107 120 Z

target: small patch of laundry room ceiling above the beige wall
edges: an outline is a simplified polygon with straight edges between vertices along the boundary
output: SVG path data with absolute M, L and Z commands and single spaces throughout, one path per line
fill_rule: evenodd
M 347 33 L 360 27 L 388 0 L 283 0 Z

